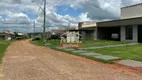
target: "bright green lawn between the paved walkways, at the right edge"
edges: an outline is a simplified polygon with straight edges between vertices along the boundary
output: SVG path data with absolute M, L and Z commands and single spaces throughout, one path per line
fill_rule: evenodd
M 117 56 L 121 59 L 142 61 L 142 44 L 115 48 L 88 49 L 88 51 L 100 53 L 103 55 Z

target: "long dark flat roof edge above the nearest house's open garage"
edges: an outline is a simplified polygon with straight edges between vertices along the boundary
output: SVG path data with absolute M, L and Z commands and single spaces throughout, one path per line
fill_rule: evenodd
M 123 25 L 140 25 L 140 24 L 142 24 L 142 17 L 98 22 L 97 27 L 115 27 Z

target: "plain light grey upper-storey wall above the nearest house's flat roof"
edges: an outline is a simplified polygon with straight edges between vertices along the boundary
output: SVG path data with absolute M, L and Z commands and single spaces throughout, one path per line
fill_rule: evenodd
M 121 19 L 142 17 L 142 4 L 121 8 Z

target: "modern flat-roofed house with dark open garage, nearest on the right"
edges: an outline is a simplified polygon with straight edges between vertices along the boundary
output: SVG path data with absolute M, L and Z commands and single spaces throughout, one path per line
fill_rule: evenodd
M 142 3 L 122 7 L 121 19 L 97 22 L 96 28 L 89 27 L 84 31 L 95 30 L 95 39 L 142 42 Z M 88 31 L 85 38 L 90 37 L 90 33 L 92 31 Z

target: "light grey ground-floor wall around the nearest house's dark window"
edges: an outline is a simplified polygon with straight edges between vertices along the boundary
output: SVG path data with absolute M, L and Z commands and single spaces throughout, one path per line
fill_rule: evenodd
M 121 26 L 121 41 L 128 41 L 128 42 L 138 42 L 138 27 L 137 25 L 133 25 L 133 38 L 132 40 L 126 39 L 126 27 Z

